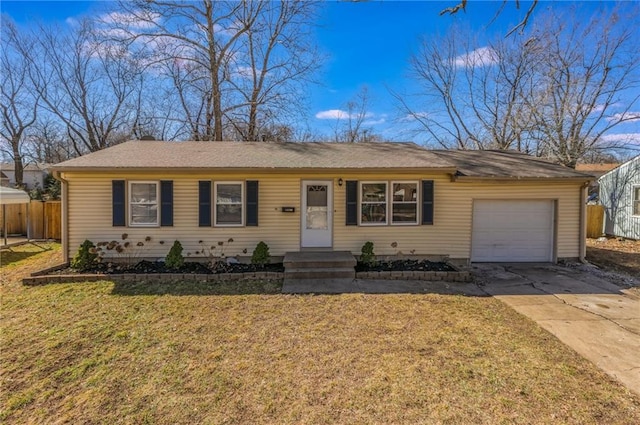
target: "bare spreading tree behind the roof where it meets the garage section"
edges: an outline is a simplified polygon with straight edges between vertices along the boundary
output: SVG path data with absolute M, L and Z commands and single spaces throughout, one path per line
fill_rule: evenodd
M 405 116 L 445 148 L 529 150 L 532 111 L 523 97 L 538 49 L 522 39 L 475 48 L 461 33 L 423 41 L 411 60 L 419 91 L 395 93 Z

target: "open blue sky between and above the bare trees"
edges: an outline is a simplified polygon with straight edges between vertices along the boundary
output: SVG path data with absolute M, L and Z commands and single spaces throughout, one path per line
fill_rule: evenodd
M 321 84 L 309 88 L 308 124 L 312 130 L 331 134 L 334 119 L 317 116 L 345 108 L 362 86 L 369 91 L 368 127 L 375 133 L 399 140 L 412 139 L 402 133 L 402 122 L 396 101 L 388 88 L 402 92 L 411 81 L 408 63 L 417 50 L 421 37 L 443 34 L 450 26 L 470 27 L 480 42 L 494 35 L 504 35 L 520 21 L 530 3 L 520 9 L 510 2 L 493 20 L 501 2 L 470 1 L 467 12 L 454 16 L 439 12 L 455 5 L 449 1 L 368 1 L 327 2 L 321 7 L 317 41 L 328 60 L 318 75 Z M 592 15 L 599 8 L 613 3 L 582 2 L 581 13 Z M 548 8 L 570 8 L 571 2 L 541 2 L 534 13 Z M 34 18 L 45 22 L 65 23 L 69 18 L 97 14 L 107 6 L 104 1 L 5 1 L 0 8 L 19 24 Z M 493 20 L 493 22 L 492 22 Z M 639 25 L 640 27 L 640 25 Z M 639 30 L 640 39 L 640 30 Z M 614 132 L 638 133 L 640 122 L 620 125 Z

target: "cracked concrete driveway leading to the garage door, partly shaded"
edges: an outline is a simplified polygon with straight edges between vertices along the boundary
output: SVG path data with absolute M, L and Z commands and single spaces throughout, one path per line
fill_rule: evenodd
M 640 292 L 588 270 L 475 264 L 481 288 L 640 395 Z

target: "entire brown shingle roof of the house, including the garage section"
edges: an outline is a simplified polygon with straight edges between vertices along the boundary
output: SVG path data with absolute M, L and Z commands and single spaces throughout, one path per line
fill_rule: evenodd
M 55 171 L 113 169 L 440 169 L 480 178 L 590 176 L 513 151 L 426 150 L 413 143 L 131 141 L 62 162 Z

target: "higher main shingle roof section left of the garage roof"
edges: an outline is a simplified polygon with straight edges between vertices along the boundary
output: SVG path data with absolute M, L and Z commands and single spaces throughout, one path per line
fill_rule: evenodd
M 413 143 L 132 141 L 62 162 L 54 170 L 107 168 L 453 168 Z

